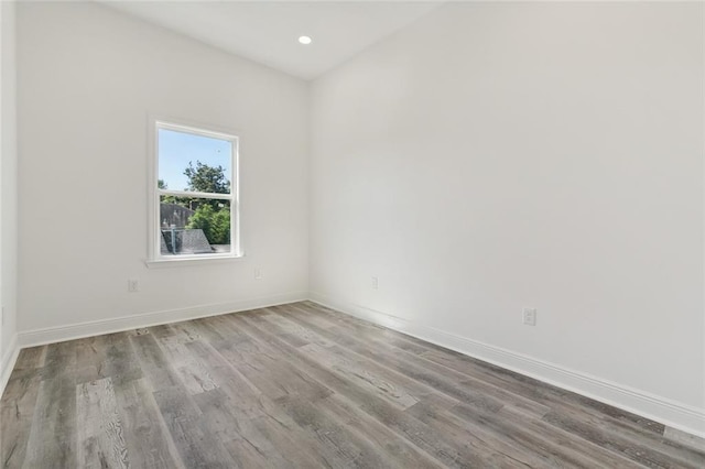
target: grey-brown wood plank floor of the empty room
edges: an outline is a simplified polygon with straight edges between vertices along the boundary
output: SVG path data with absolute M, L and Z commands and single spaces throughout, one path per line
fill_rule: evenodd
M 304 302 L 24 349 L 9 468 L 703 468 L 655 422 Z

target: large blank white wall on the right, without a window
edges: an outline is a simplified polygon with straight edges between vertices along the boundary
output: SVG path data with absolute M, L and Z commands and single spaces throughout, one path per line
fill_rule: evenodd
M 447 4 L 314 81 L 314 298 L 703 418 L 702 9 Z

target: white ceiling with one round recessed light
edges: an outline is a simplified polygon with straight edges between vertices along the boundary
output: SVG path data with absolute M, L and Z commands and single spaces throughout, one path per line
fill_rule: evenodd
M 102 1 L 226 52 L 311 79 L 429 13 L 419 1 Z M 301 45 L 299 36 L 313 39 Z

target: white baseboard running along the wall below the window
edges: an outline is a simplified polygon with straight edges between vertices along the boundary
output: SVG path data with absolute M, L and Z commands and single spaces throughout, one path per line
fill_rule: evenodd
M 307 299 L 306 292 L 288 293 L 282 295 L 265 296 L 259 298 L 241 299 L 230 303 L 192 306 L 180 309 L 143 313 L 132 316 L 117 317 L 112 319 L 91 320 L 68 326 L 46 327 L 22 331 L 18 334 L 20 348 L 42 346 L 45 343 L 62 342 L 64 340 L 80 339 L 84 337 L 100 336 L 104 334 L 120 332 L 122 330 L 141 327 L 158 326 L 161 324 L 178 323 L 182 320 L 197 319 L 200 317 L 218 316 L 228 313 L 237 313 L 257 309 L 284 303 L 301 302 Z

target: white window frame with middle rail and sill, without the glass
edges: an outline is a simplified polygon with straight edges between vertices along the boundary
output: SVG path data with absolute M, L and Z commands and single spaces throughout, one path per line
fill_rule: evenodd
M 172 190 L 159 188 L 159 130 L 173 130 L 193 135 L 227 140 L 232 144 L 230 194 L 199 193 L 189 190 Z M 149 171 L 149 249 L 148 266 L 184 265 L 238 259 L 243 255 L 240 246 L 240 181 L 239 181 L 239 137 L 235 132 L 216 130 L 213 126 L 186 123 L 175 119 L 150 118 L 150 171 Z M 160 197 L 173 195 L 177 197 L 212 198 L 230 201 L 230 252 L 213 254 L 162 255 Z

